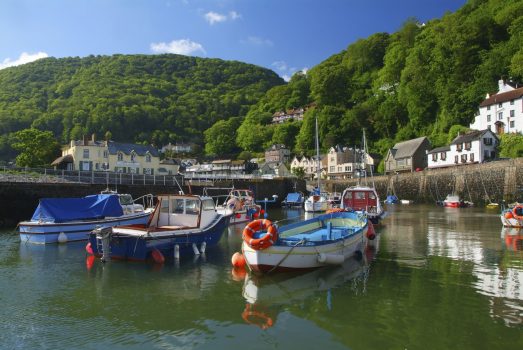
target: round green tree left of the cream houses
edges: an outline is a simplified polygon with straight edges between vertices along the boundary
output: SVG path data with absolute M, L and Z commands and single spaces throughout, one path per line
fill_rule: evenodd
M 21 167 L 48 165 L 60 154 L 60 145 L 53 134 L 38 129 L 24 129 L 14 133 L 12 147 L 19 152 L 16 165 Z

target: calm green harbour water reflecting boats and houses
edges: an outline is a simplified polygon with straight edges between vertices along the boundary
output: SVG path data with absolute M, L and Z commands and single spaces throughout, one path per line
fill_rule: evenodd
M 2 231 L 0 346 L 523 349 L 523 233 L 483 208 L 389 210 L 365 261 L 261 278 L 232 273 L 243 226 L 205 258 L 164 266 L 90 266 L 85 243 Z

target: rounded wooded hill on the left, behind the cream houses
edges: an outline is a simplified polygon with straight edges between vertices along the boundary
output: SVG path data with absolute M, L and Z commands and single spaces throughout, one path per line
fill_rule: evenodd
M 191 141 L 244 116 L 283 80 L 268 69 L 180 55 L 46 58 L 0 70 L 0 159 L 9 136 L 35 127 L 61 143 L 96 133 L 120 142 Z

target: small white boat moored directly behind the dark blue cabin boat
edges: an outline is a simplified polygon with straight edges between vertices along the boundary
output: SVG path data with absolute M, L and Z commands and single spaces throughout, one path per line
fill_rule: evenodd
M 209 195 L 211 190 L 223 190 L 220 188 L 205 188 L 204 195 Z M 255 203 L 254 194 L 248 189 L 227 189 L 226 196 L 212 196 L 216 202 L 216 210 L 225 216 L 232 214 L 229 224 L 239 224 L 257 219 L 262 215 L 262 208 Z M 220 199 L 221 197 L 221 199 Z

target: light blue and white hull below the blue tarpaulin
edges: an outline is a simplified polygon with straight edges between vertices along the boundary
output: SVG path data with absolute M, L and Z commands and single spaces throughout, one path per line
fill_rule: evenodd
M 39 223 L 23 221 L 19 227 L 20 240 L 24 243 L 54 244 L 73 241 L 85 241 L 89 233 L 99 227 L 146 224 L 150 212 L 92 221 L 67 223 Z

